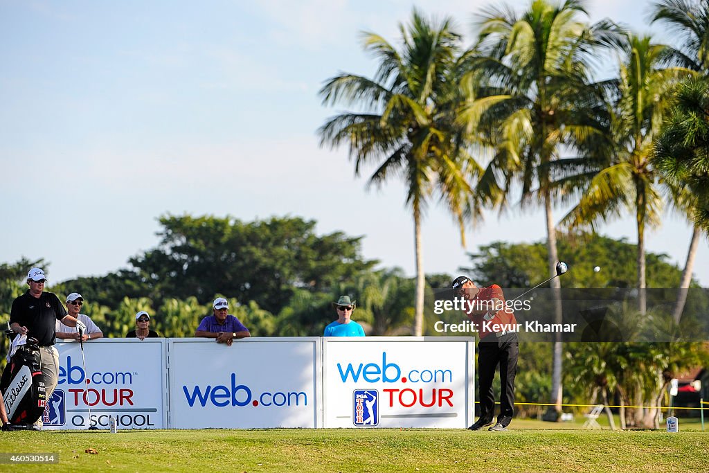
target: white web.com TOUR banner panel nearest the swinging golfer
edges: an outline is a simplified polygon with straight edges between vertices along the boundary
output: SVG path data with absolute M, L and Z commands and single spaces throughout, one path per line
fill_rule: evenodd
M 324 338 L 324 427 L 467 428 L 471 337 Z

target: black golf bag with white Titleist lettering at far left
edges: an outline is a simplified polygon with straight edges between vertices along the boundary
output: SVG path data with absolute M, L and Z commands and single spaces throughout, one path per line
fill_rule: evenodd
M 31 425 L 42 416 L 47 392 L 36 338 L 17 348 L 0 377 L 0 391 L 11 424 Z

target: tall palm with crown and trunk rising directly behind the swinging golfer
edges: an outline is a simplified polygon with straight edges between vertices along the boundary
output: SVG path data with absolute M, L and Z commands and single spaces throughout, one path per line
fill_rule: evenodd
M 479 189 L 501 189 L 521 182 L 523 203 L 536 201 L 545 209 L 547 264 L 556 274 L 557 236 L 552 207 L 564 191 L 555 189 L 554 162 L 562 145 L 579 152 L 601 145 L 606 118 L 601 92 L 590 82 L 588 63 L 597 48 L 615 37 L 613 23 L 588 26 L 580 1 L 553 5 L 536 0 L 522 16 L 511 9 L 489 8 L 479 24 L 479 42 L 465 58 L 469 72 L 464 84 L 473 84 L 474 98 L 460 113 L 469 131 L 479 129 L 496 155 Z M 584 167 L 584 160 L 564 165 Z M 507 199 L 500 201 L 506 204 Z M 557 320 L 562 318 L 559 279 L 552 279 L 557 295 Z M 554 343 L 552 399 L 557 412 L 562 402 L 562 343 Z

